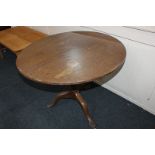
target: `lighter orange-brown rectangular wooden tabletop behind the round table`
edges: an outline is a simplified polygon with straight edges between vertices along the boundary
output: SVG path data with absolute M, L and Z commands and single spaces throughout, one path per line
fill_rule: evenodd
M 0 44 L 16 55 L 32 42 L 47 35 L 25 26 L 17 26 L 0 31 Z

